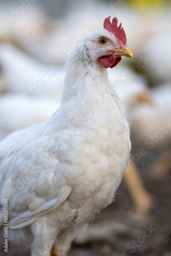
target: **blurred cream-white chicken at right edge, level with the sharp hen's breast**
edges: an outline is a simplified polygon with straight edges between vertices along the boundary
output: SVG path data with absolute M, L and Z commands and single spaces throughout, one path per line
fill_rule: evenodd
M 150 93 L 152 104 L 143 102 L 132 109 L 131 137 L 133 147 L 158 152 L 157 159 L 144 170 L 151 179 L 159 179 L 171 168 L 171 84 L 160 84 Z

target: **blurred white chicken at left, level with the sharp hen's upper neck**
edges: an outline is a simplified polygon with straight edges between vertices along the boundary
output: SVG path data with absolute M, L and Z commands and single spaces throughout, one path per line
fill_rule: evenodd
M 0 65 L 7 91 L 60 98 L 65 71 L 57 62 L 53 63 L 53 66 L 44 65 L 11 44 L 0 46 Z

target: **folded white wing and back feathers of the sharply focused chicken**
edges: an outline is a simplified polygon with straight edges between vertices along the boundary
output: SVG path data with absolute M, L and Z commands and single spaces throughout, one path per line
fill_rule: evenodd
M 3 208 L 4 199 L 9 199 L 12 229 L 30 225 L 56 209 L 71 193 L 63 164 L 57 152 L 51 151 L 54 140 L 42 129 L 38 133 L 36 130 L 30 127 L 12 133 L 0 143 L 1 205 Z M 0 209 L 0 223 L 3 218 Z

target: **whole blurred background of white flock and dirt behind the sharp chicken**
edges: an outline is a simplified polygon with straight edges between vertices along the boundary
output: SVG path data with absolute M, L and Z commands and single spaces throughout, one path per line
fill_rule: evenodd
M 115 202 L 79 234 L 69 256 L 171 256 L 169 0 L 1 0 L 0 139 L 50 118 L 66 59 L 108 16 L 122 23 L 134 54 L 108 69 L 126 106 L 132 154 Z M 10 245 L 8 255 L 29 252 Z

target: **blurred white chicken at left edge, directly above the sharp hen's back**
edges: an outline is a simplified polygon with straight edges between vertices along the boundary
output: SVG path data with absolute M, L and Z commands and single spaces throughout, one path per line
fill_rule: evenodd
M 8 93 L 0 96 L 0 139 L 9 133 L 49 120 L 60 106 L 53 98 Z

